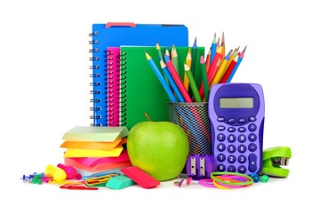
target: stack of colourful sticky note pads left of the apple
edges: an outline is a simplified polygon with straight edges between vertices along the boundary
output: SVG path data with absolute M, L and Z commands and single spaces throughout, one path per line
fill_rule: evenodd
M 128 133 L 126 127 L 76 126 L 62 137 L 64 161 L 82 175 L 132 166 L 124 148 Z

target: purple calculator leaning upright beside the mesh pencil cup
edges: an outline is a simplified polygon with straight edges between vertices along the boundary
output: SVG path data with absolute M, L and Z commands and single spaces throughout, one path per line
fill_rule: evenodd
M 208 107 L 216 170 L 258 174 L 265 116 L 260 84 L 214 84 Z

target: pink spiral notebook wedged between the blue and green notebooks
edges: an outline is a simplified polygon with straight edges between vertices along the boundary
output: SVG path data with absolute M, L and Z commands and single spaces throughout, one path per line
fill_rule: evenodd
M 108 126 L 119 126 L 120 103 L 120 48 L 107 48 Z

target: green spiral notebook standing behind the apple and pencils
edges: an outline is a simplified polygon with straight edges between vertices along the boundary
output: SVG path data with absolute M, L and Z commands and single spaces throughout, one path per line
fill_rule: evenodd
M 184 76 L 184 62 L 189 47 L 176 47 L 180 64 L 180 77 Z M 171 52 L 172 48 L 168 48 Z M 170 99 L 164 91 L 164 87 L 156 77 L 152 67 L 148 64 L 145 51 L 155 61 L 156 66 L 163 73 L 159 63 L 156 46 L 121 46 L 121 126 L 128 130 L 138 122 L 148 121 L 145 113 L 153 122 L 170 121 Z M 162 47 L 162 51 L 165 48 Z M 196 82 L 201 82 L 200 57 L 204 55 L 204 47 L 198 47 L 196 61 Z

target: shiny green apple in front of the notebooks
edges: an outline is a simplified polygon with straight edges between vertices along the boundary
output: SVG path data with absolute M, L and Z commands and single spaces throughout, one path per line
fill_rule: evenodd
M 133 166 L 158 181 L 178 177 L 188 158 L 188 137 L 173 122 L 139 122 L 129 131 L 127 150 Z

